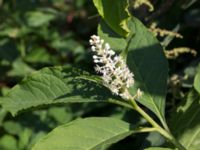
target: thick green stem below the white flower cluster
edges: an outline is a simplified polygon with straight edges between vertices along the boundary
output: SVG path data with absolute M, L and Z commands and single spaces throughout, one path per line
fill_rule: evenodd
M 172 142 L 179 150 L 186 150 L 169 132 L 169 129 L 163 129 L 157 122 L 155 122 L 143 109 L 141 109 L 135 100 L 131 100 L 133 109 L 139 112 L 161 135 Z

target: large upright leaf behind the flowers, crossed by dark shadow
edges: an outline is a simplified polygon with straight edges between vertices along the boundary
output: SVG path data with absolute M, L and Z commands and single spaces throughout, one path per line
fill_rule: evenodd
M 138 19 L 133 18 L 129 22 L 129 28 L 134 33 L 126 39 L 126 48 L 122 54 L 127 55 L 128 66 L 134 73 L 135 84 L 130 92 L 134 95 L 140 88 L 143 96 L 138 102 L 148 107 L 161 121 L 164 121 L 168 77 L 167 59 L 158 40 Z M 125 40 L 120 37 L 116 38 L 113 32 L 108 26 L 100 24 L 98 33 L 100 36 L 103 35 L 102 38 L 106 42 L 112 40 L 111 46 L 116 44 L 114 47 L 117 47 L 120 43 L 124 43 Z M 121 50 L 123 47 L 124 44 Z

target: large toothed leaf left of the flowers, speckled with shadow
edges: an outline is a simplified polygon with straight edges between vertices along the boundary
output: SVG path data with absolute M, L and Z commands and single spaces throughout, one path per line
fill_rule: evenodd
M 23 109 L 44 104 L 100 102 L 112 96 L 93 81 L 80 79 L 83 74 L 70 67 L 44 68 L 12 88 L 2 98 L 2 106 L 15 115 Z

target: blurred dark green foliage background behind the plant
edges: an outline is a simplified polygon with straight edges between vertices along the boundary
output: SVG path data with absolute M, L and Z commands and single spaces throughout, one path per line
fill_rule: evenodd
M 170 118 L 169 114 L 192 87 L 200 61 L 200 2 L 152 0 L 152 4 L 155 11 L 151 13 L 145 6 L 130 10 L 147 26 L 156 22 L 160 28 L 183 35 L 183 39 L 158 37 L 166 49 L 190 47 L 197 51 L 195 57 L 187 53 L 169 60 L 166 111 Z M 88 40 L 96 34 L 98 21 L 91 0 L 0 0 L 0 95 L 43 67 L 73 65 L 92 71 Z M 174 75 L 180 79 L 178 84 L 170 80 Z M 108 104 L 46 106 L 22 112 L 15 118 L 0 109 L 0 149 L 29 150 L 58 125 L 88 116 L 113 116 L 134 124 L 144 122 L 135 112 Z M 144 149 L 163 142 L 157 133 L 139 134 L 110 149 Z

